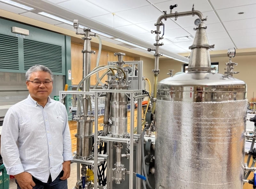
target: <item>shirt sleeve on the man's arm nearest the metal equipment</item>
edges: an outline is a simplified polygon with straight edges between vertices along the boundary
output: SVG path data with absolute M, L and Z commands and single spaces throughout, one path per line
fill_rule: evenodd
M 64 130 L 63 130 L 63 160 L 70 161 L 73 159 L 72 157 L 72 149 L 71 149 L 71 137 L 70 130 L 68 126 L 68 114 L 66 107 L 64 106 L 65 113 L 65 122 L 64 122 Z

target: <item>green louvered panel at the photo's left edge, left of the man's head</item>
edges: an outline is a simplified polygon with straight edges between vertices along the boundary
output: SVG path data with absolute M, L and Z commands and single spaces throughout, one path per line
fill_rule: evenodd
M 0 69 L 19 69 L 18 38 L 0 34 Z

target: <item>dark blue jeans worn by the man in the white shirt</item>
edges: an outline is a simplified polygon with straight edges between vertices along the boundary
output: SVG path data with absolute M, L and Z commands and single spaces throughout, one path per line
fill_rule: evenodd
M 52 181 L 52 178 L 50 175 L 47 183 L 44 183 L 32 176 L 33 181 L 36 183 L 36 186 L 34 186 L 33 189 L 68 189 L 67 179 L 60 180 L 60 177 L 62 176 L 63 176 L 63 171 L 61 171 L 58 177 L 54 181 Z M 17 183 L 17 189 L 21 189 L 18 183 Z

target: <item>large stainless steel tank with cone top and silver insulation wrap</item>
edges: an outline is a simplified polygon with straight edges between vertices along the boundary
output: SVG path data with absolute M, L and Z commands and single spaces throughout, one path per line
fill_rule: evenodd
M 189 72 L 158 83 L 157 189 L 243 186 L 246 84 L 211 73 L 202 24 L 191 46 Z

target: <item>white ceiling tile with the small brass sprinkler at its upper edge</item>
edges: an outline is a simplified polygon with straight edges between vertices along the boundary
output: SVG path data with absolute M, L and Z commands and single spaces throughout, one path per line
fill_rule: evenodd
M 92 19 L 102 24 L 108 25 L 110 27 L 120 27 L 120 26 L 132 24 L 131 22 L 128 22 L 123 18 L 120 18 L 118 16 L 113 16 L 111 13 L 93 17 Z

